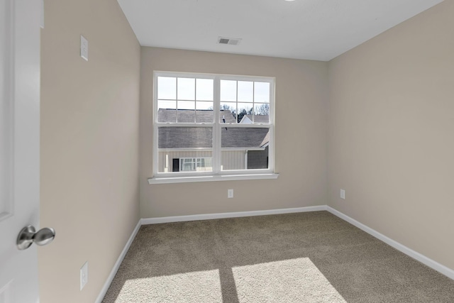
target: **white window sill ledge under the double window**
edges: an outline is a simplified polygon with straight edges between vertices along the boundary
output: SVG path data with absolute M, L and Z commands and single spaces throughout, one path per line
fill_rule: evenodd
M 277 179 L 279 174 L 250 174 L 250 175 L 211 175 L 191 177 L 153 177 L 148 179 L 148 184 L 170 184 L 187 182 L 210 182 L 210 181 L 237 181 L 237 180 L 267 180 Z

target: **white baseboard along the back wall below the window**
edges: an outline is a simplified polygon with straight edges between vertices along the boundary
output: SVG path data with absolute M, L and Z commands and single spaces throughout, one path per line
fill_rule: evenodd
M 190 216 L 164 216 L 160 218 L 145 218 L 142 219 L 142 225 L 160 224 L 170 222 L 185 222 L 211 219 L 238 218 L 242 216 L 265 216 L 269 214 L 292 214 L 306 211 L 326 211 L 326 205 L 297 207 L 293 209 L 269 209 L 264 211 L 238 211 L 227 212 L 220 214 L 194 214 Z

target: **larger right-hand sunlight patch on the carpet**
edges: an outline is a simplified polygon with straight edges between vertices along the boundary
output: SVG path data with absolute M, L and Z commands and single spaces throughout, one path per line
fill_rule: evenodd
M 232 268 L 238 301 L 346 303 L 309 258 Z

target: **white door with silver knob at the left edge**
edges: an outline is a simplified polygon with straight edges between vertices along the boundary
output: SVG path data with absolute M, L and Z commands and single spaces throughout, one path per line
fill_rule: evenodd
M 40 0 L 0 0 L 0 303 L 39 302 Z

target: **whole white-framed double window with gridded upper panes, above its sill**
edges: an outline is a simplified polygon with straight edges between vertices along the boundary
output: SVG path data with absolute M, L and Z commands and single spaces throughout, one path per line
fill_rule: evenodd
M 154 175 L 273 173 L 274 78 L 155 72 Z

